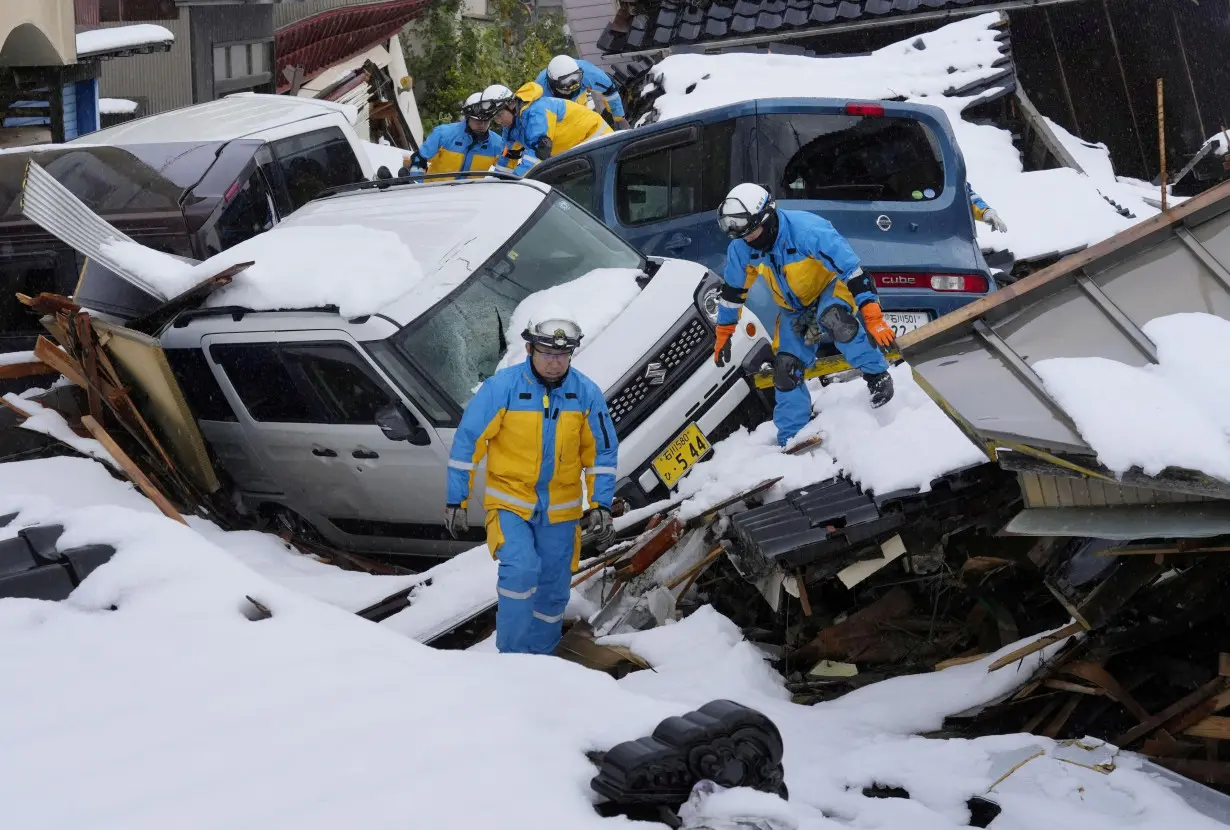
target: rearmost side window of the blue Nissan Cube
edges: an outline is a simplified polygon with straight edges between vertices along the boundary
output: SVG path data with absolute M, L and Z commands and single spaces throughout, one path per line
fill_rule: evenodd
M 631 145 L 630 155 L 615 167 L 620 224 L 643 225 L 715 210 L 731 184 L 733 133 L 734 122 L 728 119 L 656 135 L 643 143 L 643 150 Z M 678 140 L 672 141 L 672 135 Z M 662 148 L 663 143 L 668 146 Z

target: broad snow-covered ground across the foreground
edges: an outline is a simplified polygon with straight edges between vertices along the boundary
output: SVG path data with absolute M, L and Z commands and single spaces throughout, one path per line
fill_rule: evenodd
M 6 826 L 626 826 L 592 809 L 595 770 L 584 753 L 713 698 L 763 711 L 786 745 L 788 803 L 729 800 L 802 830 L 956 830 L 968 820 L 966 799 L 995 783 L 1004 759 L 1036 750 L 1048 755 L 995 788 L 995 828 L 1221 826 L 1125 754 L 1103 775 L 1052 757 L 1054 744 L 1032 735 L 913 737 L 1010 691 L 1044 653 L 806 707 L 790 702 L 733 623 L 701 609 L 617 638 L 654 670 L 616 682 L 554 658 L 423 647 L 314 599 L 346 594 L 353 605 L 353 587 L 322 585 L 354 574 L 274 564 L 303 557 L 176 524 L 93 461 L 0 465 L 0 513 L 21 510 L 0 536 L 54 519 L 64 546 L 118 547 L 63 603 L 0 600 Z M 287 578 L 299 569 L 305 582 Z M 272 619 L 251 621 L 245 596 Z M 911 798 L 862 796 L 875 783 Z

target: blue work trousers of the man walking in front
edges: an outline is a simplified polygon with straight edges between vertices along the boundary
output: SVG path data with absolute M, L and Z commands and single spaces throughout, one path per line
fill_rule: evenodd
M 525 520 L 508 510 L 491 510 L 487 545 L 499 559 L 496 648 L 552 654 L 560 644 L 581 547 L 577 521 L 550 524 L 545 514 Z

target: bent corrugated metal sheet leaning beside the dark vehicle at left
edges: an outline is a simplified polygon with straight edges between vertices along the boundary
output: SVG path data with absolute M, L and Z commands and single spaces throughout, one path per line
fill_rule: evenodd
M 107 241 L 133 242 L 133 239 L 90 210 L 66 187 L 57 182 L 50 173 L 33 161 L 26 167 L 21 213 L 74 251 L 106 266 L 118 277 L 151 296 L 166 299 L 162 291 L 116 262 L 102 248 L 102 243 Z

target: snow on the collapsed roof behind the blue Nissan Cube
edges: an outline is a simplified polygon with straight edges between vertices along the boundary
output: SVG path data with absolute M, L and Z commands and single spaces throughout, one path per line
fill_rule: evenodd
M 1156 215 L 1133 188 L 1112 198 L 1137 218 L 1119 215 L 1098 193 L 1103 180 L 1092 175 L 1068 168 L 1025 172 L 1007 130 L 962 117 L 979 96 L 945 92 L 1002 73 L 994 65 L 1004 57 L 995 39 L 999 31 L 993 28 L 998 21 L 999 14 L 979 15 L 845 58 L 670 55 L 656 68 L 664 93 L 654 107 L 664 119 L 765 97 L 904 98 L 940 107 L 952 122 L 969 183 L 1009 225 L 1006 234 L 996 234 L 979 223 L 979 243 L 1011 250 L 1018 259 L 1092 245 Z

